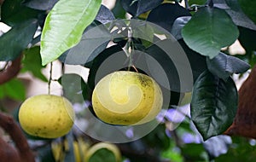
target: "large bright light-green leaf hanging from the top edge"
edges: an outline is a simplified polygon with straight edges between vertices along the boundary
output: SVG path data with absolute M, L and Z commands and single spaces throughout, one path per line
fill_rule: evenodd
M 60 0 L 49 12 L 41 37 L 42 64 L 55 61 L 77 43 L 96 18 L 101 0 Z

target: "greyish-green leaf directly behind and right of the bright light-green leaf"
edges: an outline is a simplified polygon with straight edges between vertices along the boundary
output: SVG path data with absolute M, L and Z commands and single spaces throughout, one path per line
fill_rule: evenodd
M 104 25 L 92 23 L 84 32 L 80 42 L 69 49 L 65 55 L 61 55 L 61 61 L 65 64 L 84 65 L 106 49 L 111 38 Z

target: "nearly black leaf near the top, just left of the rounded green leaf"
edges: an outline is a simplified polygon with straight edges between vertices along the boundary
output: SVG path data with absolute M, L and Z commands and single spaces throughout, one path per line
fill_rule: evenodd
M 148 14 L 147 20 L 171 32 L 172 24 L 178 17 L 189 15 L 191 15 L 189 10 L 184 9 L 177 3 L 164 3 L 152 9 Z

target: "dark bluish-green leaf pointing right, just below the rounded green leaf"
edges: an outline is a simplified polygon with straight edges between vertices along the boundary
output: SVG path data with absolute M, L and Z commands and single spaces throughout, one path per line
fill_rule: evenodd
M 219 53 L 213 59 L 207 58 L 207 67 L 212 74 L 227 80 L 233 73 L 246 72 L 250 66 L 235 56 Z

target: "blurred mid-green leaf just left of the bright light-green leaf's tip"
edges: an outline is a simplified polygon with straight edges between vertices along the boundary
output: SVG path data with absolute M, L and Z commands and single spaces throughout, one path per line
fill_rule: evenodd
M 24 51 L 24 59 L 22 61 L 23 72 L 32 72 L 32 75 L 36 78 L 40 78 L 44 82 L 47 82 L 47 78 L 45 78 L 44 74 L 41 72 L 44 68 L 41 65 L 41 57 L 40 57 L 40 47 L 35 46 L 31 49 L 26 49 Z

